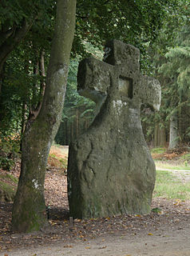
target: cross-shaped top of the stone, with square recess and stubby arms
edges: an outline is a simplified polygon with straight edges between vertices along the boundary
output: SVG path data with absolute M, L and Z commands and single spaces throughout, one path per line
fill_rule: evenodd
M 80 62 L 77 74 L 79 94 L 99 104 L 113 84 L 117 101 L 129 99 L 133 106 L 148 103 L 159 110 L 160 83 L 140 73 L 139 58 L 140 51 L 136 47 L 117 40 L 108 42 L 104 62 L 96 58 L 85 58 Z

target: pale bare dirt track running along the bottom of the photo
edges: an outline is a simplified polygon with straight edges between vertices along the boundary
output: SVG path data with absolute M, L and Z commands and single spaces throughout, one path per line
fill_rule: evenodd
M 154 233 L 109 235 L 88 242 L 59 242 L 7 252 L 9 256 L 189 256 L 190 226 L 175 230 L 154 230 Z M 1 254 L 2 256 L 6 255 Z

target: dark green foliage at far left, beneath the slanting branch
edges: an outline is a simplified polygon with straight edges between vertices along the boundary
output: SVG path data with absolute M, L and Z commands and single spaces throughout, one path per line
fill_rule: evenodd
M 34 74 L 38 54 L 22 44 L 12 52 L 4 69 L 1 95 L 1 129 L 20 133 L 23 116 L 42 101 L 40 74 Z M 27 52 L 27 53 L 26 53 Z M 36 54 L 36 55 L 35 55 Z M 23 112 L 24 111 L 24 112 Z

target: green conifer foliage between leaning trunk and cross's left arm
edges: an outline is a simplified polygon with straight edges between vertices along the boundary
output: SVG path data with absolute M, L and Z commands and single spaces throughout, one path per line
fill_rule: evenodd
M 85 122 L 89 124 L 94 117 L 95 103 L 77 92 L 77 66 L 77 60 L 70 62 L 62 121 L 55 138 L 55 142 L 61 145 L 69 144 L 81 134 L 85 129 Z

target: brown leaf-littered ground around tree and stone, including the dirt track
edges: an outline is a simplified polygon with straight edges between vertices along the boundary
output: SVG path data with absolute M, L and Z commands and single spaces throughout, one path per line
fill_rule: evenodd
M 61 148 L 58 154 L 65 158 L 67 150 Z M 45 185 L 49 228 L 32 234 L 14 234 L 10 230 L 12 203 L 0 202 L 0 255 L 190 255 L 190 200 L 153 198 L 152 209 L 160 208 L 159 212 L 76 219 L 69 226 L 66 172 L 53 168 L 52 161 Z M 12 174 L 18 177 L 19 171 L 18 164 Z M 183 182 L 188 182 L 189 177 L 190 172 L 183 175 Z

